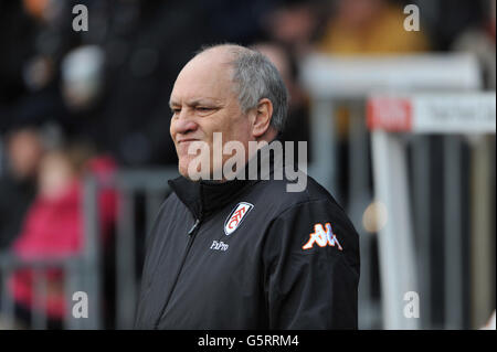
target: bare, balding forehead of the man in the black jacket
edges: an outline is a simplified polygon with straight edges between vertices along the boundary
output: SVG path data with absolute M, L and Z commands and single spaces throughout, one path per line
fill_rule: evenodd
M 171 93 L 171 103 L 222 100 L 235 97 L 233 70 L 226 55 L 204 53 L 193 57 L 181 70 Z

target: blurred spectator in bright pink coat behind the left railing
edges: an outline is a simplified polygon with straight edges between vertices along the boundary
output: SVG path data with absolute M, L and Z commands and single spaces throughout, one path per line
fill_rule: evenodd
M 12 250 L 23 259 L 64 258 L 83 249 L 82 175 L 85 170 L 99 178 L 108 178 L 115 163 L 106 157 L 91 158 L 86 148 L 70 148 L 46 153 L 41 161 L 39 192 L 25 218 L 22 232 Z M 99 218 L 104 239 L 108 238 L 116 216 L 116 195 L 113 191 L 99 194 Z M 104 242 L 105 244 L 106 242 Z M 61 321 L 65 314 L 63 276 L 60 269 L 45 271 L 46 314 L 51 322 Z M 33 296 L 33 273 L 18 270 L 11 281 L 11 292 L 20 317 L 32 309 L 42 309 Z M 25 319 L 25 318 L 24 318 Z

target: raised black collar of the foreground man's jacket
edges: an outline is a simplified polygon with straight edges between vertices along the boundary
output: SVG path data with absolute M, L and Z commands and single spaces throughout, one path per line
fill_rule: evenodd
M 273 141 L 272 141 L 273 142 Z M 271 143 L 269 143 L 271 145 Z M 234 180 L 219 181 L 191 181 L 184 177 L 179 177 L 168 181 L 172 191 L 178 195 L 179 200 L 190 210 L 197 220 L 203 220 L 216 210 L 222 209 L 245 189 L 257 183 L 262 179 L 267 179 L 274 172 L 277 163 L 273 153 L 263 152 L 268 147 L 265 146 L 257 150 L 257 153 L 245 164 L 241 171 L 245 174 L 244 180 L 235 178 Z M 264 156 L 269 158 L 269 169 L 262 174 L 261 163 Z M 250 175 L 251 166 L 257 163 L 257 175 Z M 240 174 L 240 173 L 239 173 Z

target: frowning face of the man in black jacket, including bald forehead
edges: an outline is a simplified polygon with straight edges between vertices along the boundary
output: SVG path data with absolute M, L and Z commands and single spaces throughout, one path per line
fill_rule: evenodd
M 173 111 L 170 134 L 179 159 L 179 172 L 188 177 L 188 166 L 197 157 L 189 154 L 192 141 L 203 141 L 210 148 L 210 172 L 213 166 L 213 134 L 222 132 L 223 145 L 236 140 L 245 150 L 252 136 L 251 120 L 241 110 L 232 82 L 230 56 L 211 50 L 190 61 L 180 72 L 171 93 Z M 245 156 L 246 158 L 247 156 Z M 230 158 L 223 154 L 222 162 Z

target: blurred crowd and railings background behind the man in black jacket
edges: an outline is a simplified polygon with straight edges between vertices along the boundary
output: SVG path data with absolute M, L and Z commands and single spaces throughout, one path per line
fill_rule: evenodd
M 76 4 L 88 31 L 73 30 Z M 275 63 L 292 96 L 282 138 L 308 142 L 309 173 L 360 234 L 359 327 L 483 328 L 495 19 L 495 0 L 1 0 L 0 329 L 133 328 L 147 233 L 177 175 L 169 94 L 195 51 L 223 42 Z M 372 94 L 455 94 L 435 115 L 468 102 L 467 130 L 378 131 Z M 482 111 L 494 127 L 475 131 Z M 73 314 L 76 291 L 88 318 Z

